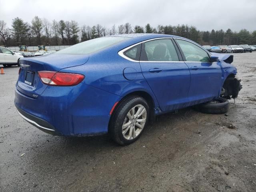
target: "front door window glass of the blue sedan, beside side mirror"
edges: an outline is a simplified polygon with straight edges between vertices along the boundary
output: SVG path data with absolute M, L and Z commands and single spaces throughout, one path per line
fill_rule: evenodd
M 186 61 L 210 62 L 208 53 L 199 46 L 185 40 L 176 39 L 176 41 L 180 45 Z

